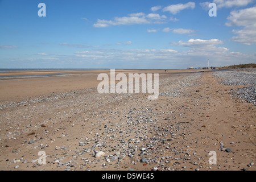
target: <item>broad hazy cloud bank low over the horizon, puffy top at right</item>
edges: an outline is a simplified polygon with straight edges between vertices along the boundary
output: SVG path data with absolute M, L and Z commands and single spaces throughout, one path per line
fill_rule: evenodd
M 122 43 L 123 44 L 123 43 Z M 181 69 L 187 67 L 206 67 L 207 60 L 210 66 L 230 65 L 234 63 L 249 63 L 255 60 L 256 55 L 248 55 L 241 52 L 229 52 L 226 47 L 217 47 L 223 44 L 218 39 L 190 39 L 179 41 L 177 46 L 188 47 L 185 51 L 175 49 L 98 49 L 89 53 L 76 53 L 69 59 L 76 63 L 95 63 L 106 65 L 107 67 L 120 68 L 174 68 Z M 180 48 L 179 48 L 180 49 Z M 63 57 L 61 57 L 63 60 Z

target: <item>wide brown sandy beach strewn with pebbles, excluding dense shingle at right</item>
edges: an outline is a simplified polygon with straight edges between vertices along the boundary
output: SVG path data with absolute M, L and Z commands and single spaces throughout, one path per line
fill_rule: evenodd
M 100 94 L 110 71 L 5 72 L 0 80 L 0 169 L 255 171 L 254 103 L 213 71 L 159 73 L 159 97 Z M 31 75 L 31 77 L 18 77 Z M 39 151 L 46 164 L 39 164 Z M 98 158 L 97 152 L 104 152 Z M 217 164 L 209 164 L 215 151 Z

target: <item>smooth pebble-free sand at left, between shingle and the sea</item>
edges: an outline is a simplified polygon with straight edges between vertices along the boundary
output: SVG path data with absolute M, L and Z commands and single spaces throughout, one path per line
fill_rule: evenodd
M 162 73 L 167 74 L 163 70 L 132 70 L 116 69 L 115 73 Z M 195 72 L 188 70 L 169 70 L 168 73 L 187 73 Z M 65 75 L 47 76 L 56 73 Z M 110 74 L 108 71 L 12 71 L 0 73 L 2 76 L 0 84 L 0 100 L 1 101 L 18 101 L 26 100 L 27 97 L 35 97 L 40 95 L 51 94 L 52 92 L 68 92 L 70 90 L 95 88 L 100 81 L 97 76 L 100 73 Z M 26 77 L 19 77 L 24 76 Z M 36 75 L 36 76 L 35 76 Z M 42 75 L 42 77 L 38 76 Z M 160 75 L 160 76 L 162 76 Z M 14 77 L 5 77 L 14 76 Z M 28 77 L 30 76 L 30 77 Z M 72 82 L 72 84 L 71 84 Z

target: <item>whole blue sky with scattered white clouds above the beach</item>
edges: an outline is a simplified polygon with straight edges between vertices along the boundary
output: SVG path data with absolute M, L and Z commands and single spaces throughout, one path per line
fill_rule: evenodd
M 212 2 L 217 16 L 210 17 Z M 255 19 L 255 0 L 0 0 L 0 68 L 256 63 Z

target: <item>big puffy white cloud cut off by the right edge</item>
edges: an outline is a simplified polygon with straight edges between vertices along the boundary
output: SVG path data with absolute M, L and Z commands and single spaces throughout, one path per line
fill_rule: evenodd
M 243 43 L 246 45 L 256 44 L 256 6 L 238 11 L 231 11 L 227 18 L 226 26 L 243 26 L 240 30 L 233 30 L 234 42 Z

